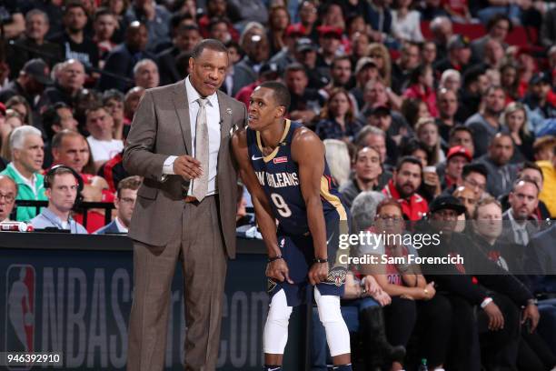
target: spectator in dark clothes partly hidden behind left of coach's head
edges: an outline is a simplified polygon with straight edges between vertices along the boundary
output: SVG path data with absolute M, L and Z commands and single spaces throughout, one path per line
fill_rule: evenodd
M 201 34 L 196 25 L 180 25 L 177 27 L 172 39 L 173 46 L 156 55 L 160 85 L 174 84 L 182 79 L 176 59 L 178 55 L 193 50 L 194 45 L 197 45 L 199 41 L 201 41 Z

